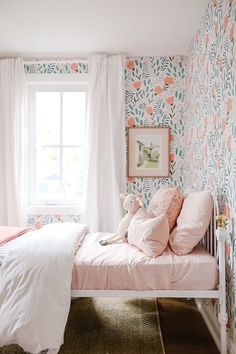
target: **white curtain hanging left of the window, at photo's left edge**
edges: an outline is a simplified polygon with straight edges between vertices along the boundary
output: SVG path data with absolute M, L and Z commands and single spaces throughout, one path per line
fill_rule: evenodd
M 24 63 L 0 60 L 0 225 L 23 224 Z

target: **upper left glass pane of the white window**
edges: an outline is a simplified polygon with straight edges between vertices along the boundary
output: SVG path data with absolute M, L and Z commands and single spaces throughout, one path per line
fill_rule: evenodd
M 60 92 L 36 92 L 36 144 L 60 142 Z

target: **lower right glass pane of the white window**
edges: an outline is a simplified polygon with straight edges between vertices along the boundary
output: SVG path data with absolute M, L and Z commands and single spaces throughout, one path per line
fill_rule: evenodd
M 63 185 L 65 199 L 80 199 L 83 187 L 82 147 L 63 149 Z

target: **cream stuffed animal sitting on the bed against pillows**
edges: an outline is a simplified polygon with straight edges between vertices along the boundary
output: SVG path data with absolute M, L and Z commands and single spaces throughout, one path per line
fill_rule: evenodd
M 110 245 L 120 240 L 126 240 L 127 230 L 132 220 L 132 217 L 136 213 L 136 211 L 143 206 L 142 200 L 134 194 L 122 193 L 120 195 L 121 199 L 124 199 L 123 207 L 128 211 L 126 215 L 121 219 L 118 225 L 117 232 L 114 236 L 101 240 L 99 243 L 102 246 Z

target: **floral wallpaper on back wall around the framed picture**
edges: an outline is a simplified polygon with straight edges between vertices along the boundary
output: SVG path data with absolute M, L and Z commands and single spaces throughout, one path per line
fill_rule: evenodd
M 184 157 L 184 78 L 185 58 L 128 58 L 125 68 L 127 127 L 170 127 L 170 177 L 128 178 L 130 193 L 148 204 L 161 184 L 182 187 Z

